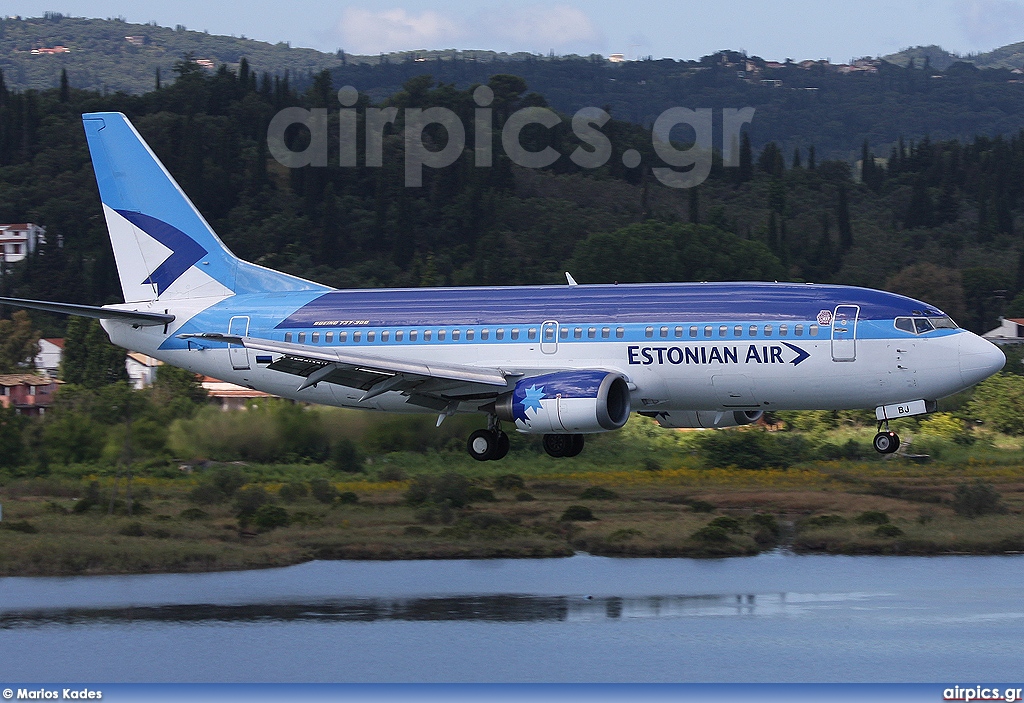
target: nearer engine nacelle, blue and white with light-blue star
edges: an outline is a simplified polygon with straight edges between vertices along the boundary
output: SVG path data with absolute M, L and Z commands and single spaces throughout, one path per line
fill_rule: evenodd
M 617 430 L 630 418 L 630 389 L 618 374 L 557 371 L 519 381 L 495 401 L 500 420 L 526 434 Z

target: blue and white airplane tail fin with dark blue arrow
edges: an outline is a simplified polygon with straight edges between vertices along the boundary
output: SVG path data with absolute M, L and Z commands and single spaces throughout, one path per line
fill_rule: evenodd
M 231 254 L 124 115 L 82 122 L 126 303 L 329 290 Z

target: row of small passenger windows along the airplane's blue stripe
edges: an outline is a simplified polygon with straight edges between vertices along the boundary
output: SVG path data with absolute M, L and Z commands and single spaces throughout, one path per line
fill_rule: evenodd
M 715 334 L 716 329 L 718 331 L 717 335 Z M 731 327 L 731 332 L 732 332 L 731 337 L 743 337 L 743 329 L 744 329 L 744 325 L 742 325 L 742 324 L 732 325 L 732 327 Z M 659 328 L 647 327 L 645 329 L 645 335 L 648 338 L 653 338 L 654 335 L 655 335 L 655 332 L 656 332 L 659 337 L 662 337 L 662 338 L 668 338 L 668 337 L 670 337 L 670 332 L 671 332 L 672 336 L 674 336 L 676 338 L 682 338 L 683 337 L 683 333 L 685 331 L 686 331 L 686 328 L 682 327 L 682 326 L 677 326 L 677 327 L 674 327 L 674 328 L 673 327 L 659 327 Z M 512 341 L 517 341 L 517 340 L 520 339 L 521 332 L 525 332 L 525 339 L 527 341 L 535 342 L 535 341 L 537 341 L 538 328 L 537 327 L 527 327 L 525 331 L 520 331 L 519 327 L 512 327 L 512 328 L 506 331 L 504 327 L 497 327 L 494 331 L 492 331 L 489 328 L 483 328 L 483 329 L 479 329 L 479 331 L 476 331 L 476 329 L 466 329 L 465 332 L 462 331 L 462 329 L 451 329 L 451 331 L 449 331 L 449 329 L 409 329 L 409 331 L 395 329 L 393 333 L 390 329 L 384 329 L 384 331 L 380 332 L 379 335 L 380 335 L 380 341 L 382 343 L 390 342 L 392 339 L 394 339 L 395 342 L 404 342 L 407 339 L 410 342 L 419 342 L 420 339 L 422 339 L 424 342 L 432 342 L 434 340 L 436 340 L 438 342 L 444 342 L 444 341 L 447 340 L 447 336 L 449 336 L 450 333 L 451 333 L 451 336 L 452 336 L 451 339 L 452 339 L 453 342 L 459 342 L 460 340 L 462 340 L 464 334 L 465 334 L 466 341 L 467 342 L 472 342 L 472 341 L 474 341 L 476 339 L 477 332 L 479 332 L 480 341 L 483 341 L 483 342 L 485 342 L 485 341 L 487 341 L 487 340 L 490 339 L 492 332 L 494 332 L 494 336 L 495 336 L 494 338 L 495 338 L 495 340 L 498 340 L 498 341 L 504 340 L 506 338 L 506 334 L 508 335 L 508 339 L 510 339 Z M 714 338 L 714 337 L 719 337 L 719 338 L 730 337 L 730 334 L 729 334 L 730 333 L 730 326 L 728 324 L 721 324 L 721 325 L 718 325 L 717 327 L 715 325 L 708 324 L 708 325 L 703 326 L 702 332 L 703 332 L 702 337 L 705 339 L 711 339 L 711 338 Z M 751 325 L 746 326 L 746 336 L 748 337 L 758 337 L 758 336 L 773 337 L 776 334 L 779 337 L 788 337 L 790 336 L 790 332 L 791 332 L 791 328 L 790 328 L 788 324 L 779 324 L 778 327 L 777 327 L 777 332 L 776 332 L 775 325 L 772 325 L 772 324 L 765 324 L 765 325 L 751 324 Z M 688 329 L 689 336 L 691 338 L 694 338 L 694 339 L 698 338 L 698 337 L 701 337 L 700 333 L 701 333 L 701 328 L 699 326 L 697 326 L 697 325 L 691 325 L 689 327 L 689 329 Z M 559 339 L 567 340 L 567 339 L 569 339 L 569 335 L 570 334 L 572 336 L 572 339 L 575 339 L 575 340 L 582 340 L 582 339 L 584 339 L 584 335 L 586 335 L 587 339 L 589 339 L 589 340 L 598 339 L 598 336 L 600 336 L 600 339 L 607 340 L 607 339 L 611 339 L 612 328 L 611 327 L 572 327 L 572 328 L 569 328 L 569 327 L 559 327 L 558 328 L 558 337 L 559 337 Z M 816 324 L 808 325 L 808 327 L 807 327 L 807 334 L 808 334 L 809 337 L 817 337 L 818 336 L 818 325 L 816 325 Z M 392 335 L 393 335 L 393 338 L 392 338 Z M 555 327 L 554 326 L 544 327 L 543 335 L 544 335 L 544 341 L 545 342 L 554 342 L 554 339 L 555 339 Z M 623 339 L 626 336 L 626 328 L 625 327 L 615 327 L 614 328 L 614 335 L 615 335 L 615 339 L 620 339 L 620 340 Z M 794 324 L 793 325 L 793 335 L 794 335 L 794 337 L 803 337 L 804 336 L 804 325 L 803 324 Z M 347 331 L 343 331 L 343 332 L 339 332 L 338 333 L 338 343 L 339 344 L 345 344 L 345 343 L 347 343 L 349 341 L 349 339 L 351 339 L 351 341 L 353 343 L 362 342 L 364 339 L 366 339 L 366 341 L 368 343 L 373 343 L 373 342 L 377 341 L 377 338 L 378 338 L 378 333 L 375 332 L 375 331 L 368 331 L 366 333 L 364 333 L 361 331 L 354 331 L 354 332 L 351 333 L 351 336 L 349 336 L 349 333 Z M 313 332 L 313 333 L 304 333 L 304 332 L 291 333 L 291 332 L 286 332 L 285 333 L 285 341 L 286 342 L 297 341 L 299 344 L 305 344 L 307 339 L 308 339 L 308 341 L 311 344 L 321 344 L 321 340 L 322 339 L 323 339 L 323 343 L 324 344 L 334 344 L 335 333 L 333 333 L 333 332 L 325 332 L 323 334 L 318 333 L 318 332 Z

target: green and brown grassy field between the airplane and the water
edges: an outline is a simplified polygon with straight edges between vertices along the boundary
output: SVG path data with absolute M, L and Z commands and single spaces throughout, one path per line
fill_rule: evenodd
M 725 557 L 779 545 L 834 554 L 1022 552 L 1024 467 L 1009 460 L 1016 452 L 992 451 L 942 464 L 835 460 L 762 471 L 657 469 L 671 460 L 666 455 L 646 469 L 610 462 L 571 471 L 578 465 L 537 455 L 497 465 L 470 464 L 455 452 L 399 453 L 377 460 L 366 476 L 335 475 L 330 482 L 318 465 L 221 467 L 236 479 L 244 472 L 240 480 L 248 484 L 236 485 L 233 497 L 199 500 L 197 488 L 212 485 L 217 475 L 210 467 L 188 476 L 136 478 L 132 516 L 123 500 L 108 515 L 109 476 L 83 470 L 12 478 L 0 487 L 0 574 L 211 571 L 311 559 L 555 557 L 574 551 Z M 443 476 L 462 493 L 431 497 L 430 490 L 443 492 L 437 487 Z M 330 486 L 322 496 L 327 502 L 309 494 L 317 478 L 322 489 Z M 957 514 L 957 487 L 978 485 L 997 503 L 979 517 Z M 414 486 L 427 491 L 425 499 L 413 500 L 418 504 L 410 500 Z M 240 518 L 240 500 L 253 491 L 267 507 Z M 91 507 L 83 501 L 89 495 Z

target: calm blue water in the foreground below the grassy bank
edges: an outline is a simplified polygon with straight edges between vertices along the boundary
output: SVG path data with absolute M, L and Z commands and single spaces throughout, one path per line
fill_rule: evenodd
M 1024 557 L 312 562 L 0 578 L 23 682 L 978 682 Z

